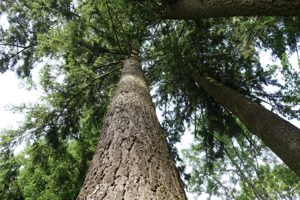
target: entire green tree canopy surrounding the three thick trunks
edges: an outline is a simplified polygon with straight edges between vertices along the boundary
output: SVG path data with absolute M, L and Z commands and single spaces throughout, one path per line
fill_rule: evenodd
M 298 53 L 298 16 L 164 19 L 163 10 L 172 3 L 0 2 L 0 14 L 9 23 L 6 29 L 0 27 L 0 71 L 15 71 L 27 80 L 26 87 L 38 84 L 43 88 L 40 103 L 11 108 L 25 114 L 19 128 L 1 131 L 0 198 L 76 199 L 124 60 L 132 49 L 138 49 L 147 84 L 155 89 L 155 106 L 162 111 L 161 126 L 176 161 L 182 158 L 174 143 L 180 141 L 186 124 L 193 127 L 199 143 L 184 154 L 195 166 L 190 174 L 184 172 L 184 166 L 178 167 L 191 190 L 220 195 L 221 187 L 225 194 L 238 199 L 287 199 L 288 195 L 295 199 L 300 195 L 299 173 L 296 175 L 275 158 L 268 161 L 265 157 L 270 150 L 263 142 L 232 110 L 205 92 L 188 70 L 192 67 L 199 76 L 211 77 L 253 102 L 269 104 L 271 111 L 299 120 L 300 77 L 287 60 L 288 55 Z M 259 52 L 267 49 L 282 60 L 280 66 L 260 64 Z M 37 63 L 43 67 L 40 81 L 34 83 L 30 71 Z M 278 72 L 285 84 L 277 81 Z M 276 86 L 277 91 L 268 92 L 269 85 Z M 23 140 L 25 149 L 14 155 L 13 149 Z M 234 145 L 239 148 L 236 150 Z M 296 140 L 294 145 L 299 146 Z M 266 152 L 259 154 L 261 151 Z M 271 164 L 253 163 L 259 156 Z M 223 163 L 228 160 L 231 162 Z M 241 163 L 242 167 L 238 166 Z M 231 174 L 230 184 L 240 184 L 237 192 L 238 188 L 218 181 L 225 172 L 215 171 L 226 171 L 227 166 L 236 168 L 237 175 Z M 244 171 L 251 176 L 246 183 L 240 180 L 246 176 L 242 175 Z M 282 171 L 288 174 L 288 180 L 280 177 Z M 278 188 L 276 194 L 266 189 L 265 185 L 276 181 L 284 182 L 287 189 Z M 197 189 L 203 184 L 207 189 Z

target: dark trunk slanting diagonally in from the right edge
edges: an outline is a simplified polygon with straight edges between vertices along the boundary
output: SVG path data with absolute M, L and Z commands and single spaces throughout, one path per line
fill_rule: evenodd
M 200 75 L 195 68 L 189 67 L 185 71 L 300 176 L 299 128 L 232 88 L 207 75 Z

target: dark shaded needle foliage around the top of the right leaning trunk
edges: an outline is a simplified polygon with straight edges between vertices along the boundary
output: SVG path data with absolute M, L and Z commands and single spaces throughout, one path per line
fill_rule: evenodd
M 253 20 L 259 18 L 161 22 L 156 34 L 161 34 L 163 42 L 157 41 L 158 47 L 150 48 L 149 52 L 162 55 L 152 61 L 160 67 L 154 76 L 159 85 L 154 97 L 164 116 L 162 126 L 175 141 L 184 132 L 184 122 L 191 124 L 203 110 L 206 110 L 209 128 L 230 136 L 240 132 L 230 112 L 187 78 L 184 67 L 194 66 L 201 74 L 207 73 L 257 102 L 261 102 L 257 93 L 264 93 L 263 85 L 278 85 L 273 69 L 264 69 L 259 63 L 254 38 L 260 24 L 251 22 Z M 248 24 L 256 26 L 248 28 Z M 207 147 L 220 148 L 217 152 L 211 151 L 213 161 L 222 155 L 222 146 L 213 143 L 213 134 L 206 135 L 205 139 Z

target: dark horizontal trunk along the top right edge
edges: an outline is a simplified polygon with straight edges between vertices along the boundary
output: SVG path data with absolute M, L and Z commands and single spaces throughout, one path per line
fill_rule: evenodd
M 300 0 L 175 0 L 165 19 L 227 16 L 300 16 Z

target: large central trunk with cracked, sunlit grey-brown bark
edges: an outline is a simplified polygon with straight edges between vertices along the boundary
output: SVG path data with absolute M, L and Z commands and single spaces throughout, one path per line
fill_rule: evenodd
M 186 199 L 136 55 L 124 62 L 77 199 Z

